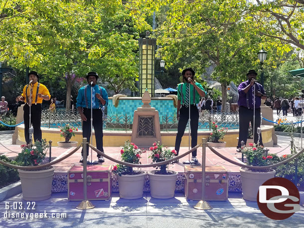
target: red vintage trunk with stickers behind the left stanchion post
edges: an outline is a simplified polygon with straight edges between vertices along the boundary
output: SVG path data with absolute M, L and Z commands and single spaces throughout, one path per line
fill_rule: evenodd
M 112 165 L 87 166 L 87 199 L 109 200 L 112 192 Z M 83 166 L 74 165 L 68 171 L 68 200 L 83 200 Z

